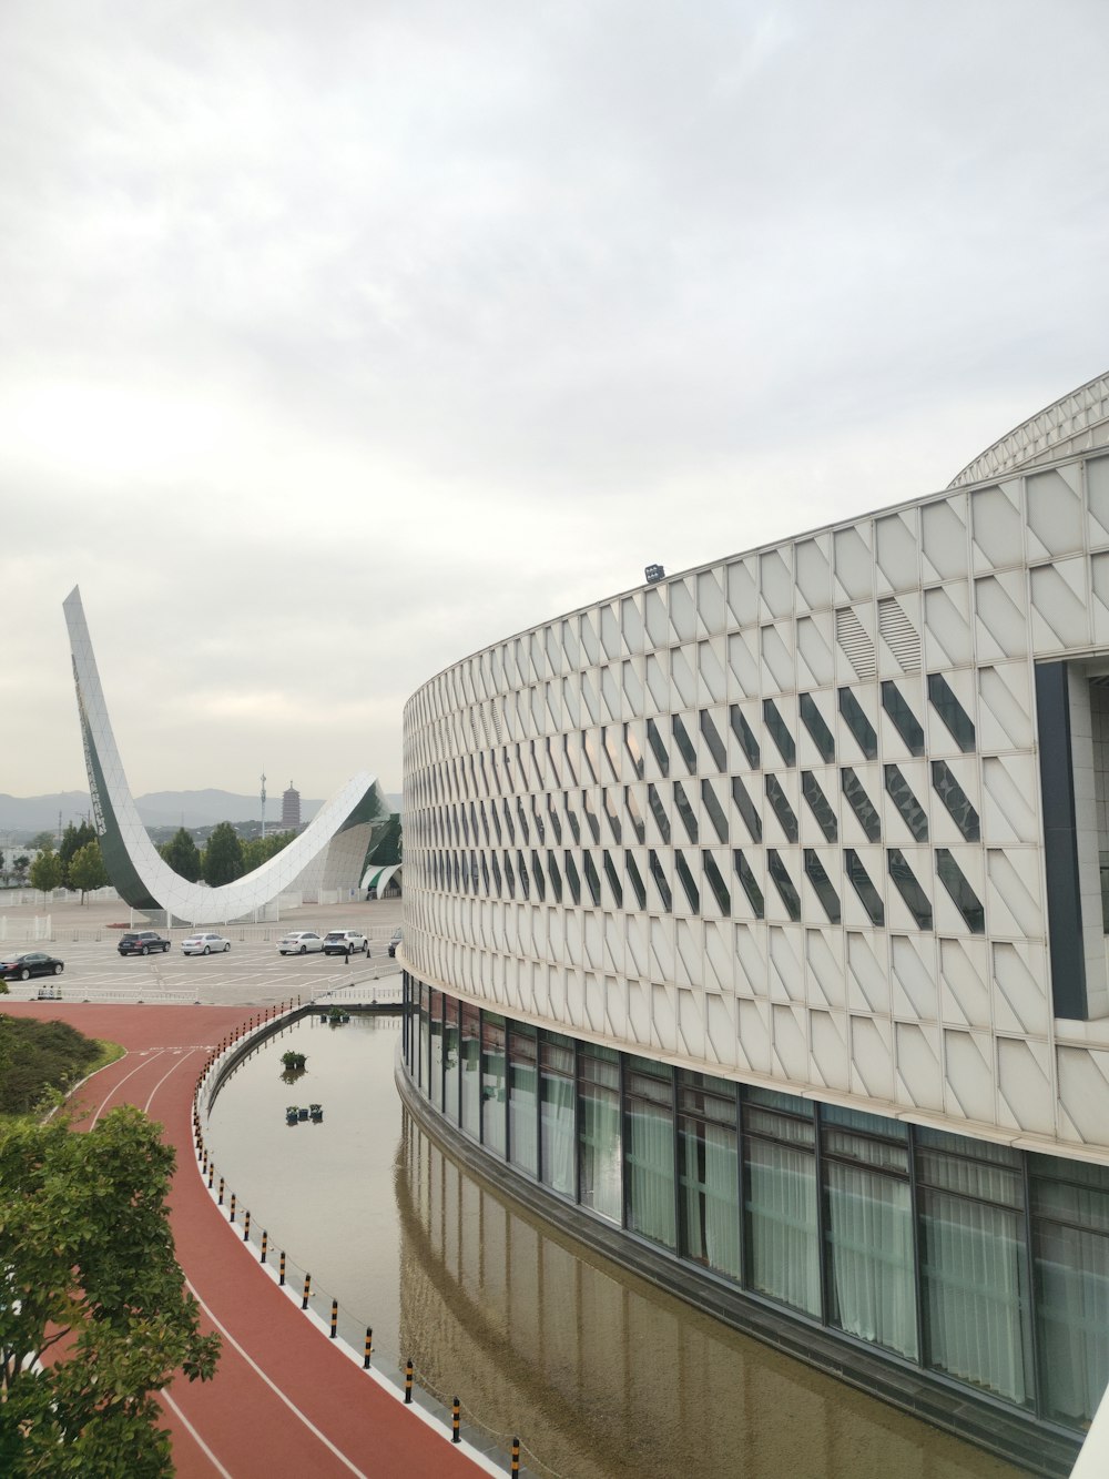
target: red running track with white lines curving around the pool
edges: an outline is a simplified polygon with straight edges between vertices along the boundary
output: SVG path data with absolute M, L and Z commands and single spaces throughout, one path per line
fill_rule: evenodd
M 75 1105 L 87 1124 L 114 1105 L 139 1105 L 177 1151 L 170 1194 L 177 1262 L 204 1328 L 223 1336 L 213 1381 L 179 1378 L 163 1393 L 182 1479 L 473 1479 L 484 1472 L 333 1346 L 214 1205 L 192 1148 L 192 1093 L 211 1049 L 250 1012 L 58 1001 L 3 1001 L 0 1010 L 61 1019 L 121 1043 L 127 1056 L 90 1078 Z

